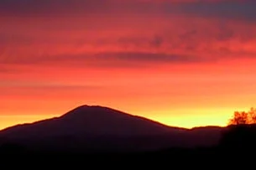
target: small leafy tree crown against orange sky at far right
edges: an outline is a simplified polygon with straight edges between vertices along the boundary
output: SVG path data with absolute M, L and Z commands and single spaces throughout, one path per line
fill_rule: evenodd
M 256 123 L 256 109 L 251 108 L 249 111 L 235 111 L 228 125 L 244 125 Z

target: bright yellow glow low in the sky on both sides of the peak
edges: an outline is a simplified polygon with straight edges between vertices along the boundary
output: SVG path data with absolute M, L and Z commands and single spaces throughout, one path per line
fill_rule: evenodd
M 247 111 L 247 109 L 240 109 L 239 111 Z M 238 111 L 238 110 L 237 110 Z M 159 123 L 165 124 L 167 126 L 177 126 L 185 128 L 193 128 L 196 126 L 227 126 L 228 119 L 232 116 L 232 109 L 222 109 L 222 110 L 198 110 L 198 114 L 180 114 L 180 116 L 168 116 L 169 111 L 163 111 L 157 116 L 152 112 L 147 112 L 144 115 L 145 118 L 151 119 L 153 121 L 158 121 Z M 206 114 L 207 113 L 207 114 Z M 218 114 L 217 114 L 218 113 Z M 142 116 L 143 114 L 134 114 L 137 116 Z M 41 121 L 44 119 L 52 118 L 61 115 L 13 115 L 13 116 L 0 116 L 0 129 L 6 128 L 8 126 L 14 126 L 17 124 L 31 123 L 34 121 Z

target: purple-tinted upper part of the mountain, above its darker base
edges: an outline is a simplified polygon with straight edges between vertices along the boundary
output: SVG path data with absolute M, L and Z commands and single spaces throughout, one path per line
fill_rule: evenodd
M 148 136 L 165 134 L 178 128 L 165 126 L 144 117 L 102 106 L 79 106 L 60 117 L 9 127 L 0 132 L 13 137 Z

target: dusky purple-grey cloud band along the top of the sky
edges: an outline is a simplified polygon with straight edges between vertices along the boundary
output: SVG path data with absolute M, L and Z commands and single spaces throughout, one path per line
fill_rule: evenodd
M 168 16 L 196 15 L 214 18 L 233 18 L 247 21 L 256 19 L 256 2 L 230 1 L 165 1 L 144 3 L 140 0 L 0 0 L 0 14 L 9 17 L 76 17 L 91 14 L 130 13 Z M 118 16 L 118 15 L 117 15 Z M 122 15 L 121 15 L 122 16 Z

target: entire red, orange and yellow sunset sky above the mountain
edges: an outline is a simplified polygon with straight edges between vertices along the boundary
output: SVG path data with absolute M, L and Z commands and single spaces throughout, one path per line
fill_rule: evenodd
M 108 106 L 226 126 L 256 101 L 254 0 L 0 0 L 0 129 Z

